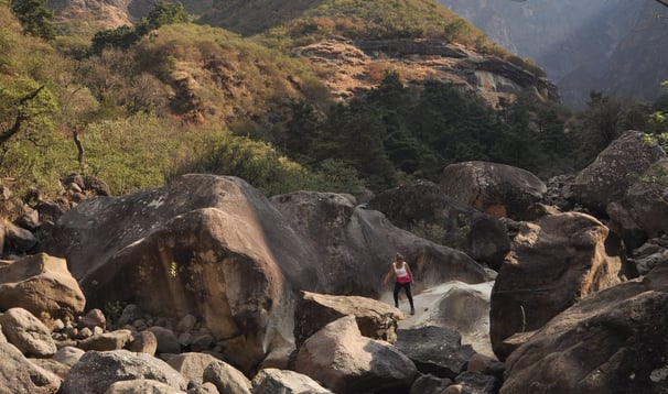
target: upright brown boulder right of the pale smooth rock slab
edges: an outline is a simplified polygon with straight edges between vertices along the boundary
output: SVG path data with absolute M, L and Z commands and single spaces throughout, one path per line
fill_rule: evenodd
M 505 360 L 504 340 L 542 327 L 573 303 L 619 283 L 618 238 L 578 212 L 525 222 L 502 266 L 491 299 L 491 340 Z

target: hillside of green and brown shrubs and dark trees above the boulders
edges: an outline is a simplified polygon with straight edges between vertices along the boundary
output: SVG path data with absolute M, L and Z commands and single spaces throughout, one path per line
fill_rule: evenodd
M 141 17 L 111 2 L 95 2 L 94 14 L 17 4 L 0 1 L 0 172 L 18 190 L 56 194 L 57 179 L 76 172 L 121 195 L 205 172 L 268 195 L 378 191 L 465 160 L 547 177 L 582 167 L 656 110 L 600 96 L 571 113 L 537 95 L 539 68 L 435 1 L 191 1 L 191 12 L 158 2 Z M 103 6 L 119 12 L 111 28 L 100 26 Z M 343 99 L 332 84 L 347 69 L 338 57 L 301 55 L 322 43 L 344 43 L 352 55 L 342 58 L 362 69 Z M 445 55 L 397 55 L 388 43 Z M 437 78 L 445 66 L 424 64 L 443 58 L 449 74 Z M 496 78 L 494 100 L 484 78 Z

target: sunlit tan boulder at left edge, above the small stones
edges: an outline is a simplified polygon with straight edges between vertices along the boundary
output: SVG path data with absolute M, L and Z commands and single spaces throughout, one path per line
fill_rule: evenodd
M 85 306 L 63 259 L 39 253 L 0 265 L 0 310 L 20 307 L 34 316 L 64 318 L 80 315 Z

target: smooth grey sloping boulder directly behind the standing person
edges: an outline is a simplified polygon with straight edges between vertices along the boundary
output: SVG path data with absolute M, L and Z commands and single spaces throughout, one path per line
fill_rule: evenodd
M 313 251 L 322 270 L 324 288 L 319 293 L 378 298 L 386 291 L 380 280 L 397 251 L 424 284 L 487 278 L 465 253 L 395 227 L 381 212 L 355 205 L 352 196 L 295 191 L 274 196 L 271 203 L 302 237 L 303 247 Z

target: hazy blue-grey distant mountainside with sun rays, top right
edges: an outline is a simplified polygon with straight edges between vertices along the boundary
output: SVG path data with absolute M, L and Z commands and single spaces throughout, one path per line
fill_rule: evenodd
M 500 45 L 536 59 L 572 107 L 582 107 L 591 90 L 653 100 L 660 95 L 655 81 L 668 78 L 657 45 L 667 10 L 653 0 L 440 2 Z

